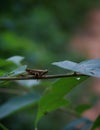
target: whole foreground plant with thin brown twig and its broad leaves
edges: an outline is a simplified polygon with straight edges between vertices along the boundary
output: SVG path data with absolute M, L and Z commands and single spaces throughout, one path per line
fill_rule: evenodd
M 38 94 L 36 91 L 29 91 L 26 93 L 22 91 L 23 94 L 21 96 L 12 96 L 11 99 L 0 106 L 0 119 L 10 116 L 10 114 L 17 112 L 18 110 L 22 110 L 25 107 L 35 106 L 35 104 L 38 104 L 35 119 L 35 127 L 37 128 L 39 120 L 45 114 L 48 114 L 58 108 L 66 107 L 77 116 L 81 116 L 80 110 L 83 111 L 88 108 L 86 104 L 83 104 L 78 109 L 73 109 L 73 104 L 68 98 L 66 98 L 66 95 L 68 95 L 77 85 L 81 84 L 89 77 L 92 76 L 100 78 L 100 59 L 86 60 L 80 63 L 75 63 L 72 61 L 54 62 L 53 65 L 59 66 L 60 68 L 65 69 L 65 71 L 71 70 L 70 73 L 67 73 L 66 71 L 65 74 L 56 75 L 47 75 L 45 73 L 41 75 L 40 72 L 44 72 L 43 70 L 33 71 L 31 69 L 30 71 L 32 71 L 32 73 L 27 73 L 27 65 L 23 65 L 21 63 L 23 59 L 24 58 L 21 56 L 14 56 L 7 60 L 1 60 L 1 85 L 8 81 L 16 81 L 21 85 L 24 85 L 24 82 L 26 82 L 26 85 L 28 86 L 32 81 L 32 85 L 41 84 L 41 82 L 36 82 L 34 79 L 60 79 L 53 81 L 53 83 L 51 82 L 49 87 L 44 89 L 43 94 Z M 2 67 L 4 66 L 6 69 L 2 71 Z M 24 81 L 19 82 L 20 80 Z

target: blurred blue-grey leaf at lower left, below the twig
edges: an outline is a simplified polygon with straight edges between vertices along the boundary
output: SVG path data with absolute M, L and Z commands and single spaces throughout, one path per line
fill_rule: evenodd
M 27 94 L 24 96 L 17 96 L 8 100 L 0 106 L 0 119 L 22 109 L 26 106 L 36 103 L 40 99 L 38 94 Z

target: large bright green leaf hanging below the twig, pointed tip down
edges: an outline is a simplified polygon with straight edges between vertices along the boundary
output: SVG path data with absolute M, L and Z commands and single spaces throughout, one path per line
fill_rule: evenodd
M 63 78 L 57 80 L 52 84 L 49 93 L 44 95 L 39 101 L 39 109 L 36 118 L 36 125 L 40 118 L 46 113 L 53 111 L 61 106 L 69 106 L 70 102 L 65 99 L 68 94 L 76 85 L 84 81 L 87 77 L 81 77 L 77 80 L 75 77 Z

